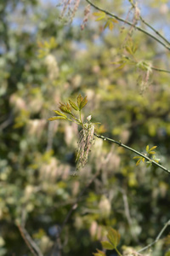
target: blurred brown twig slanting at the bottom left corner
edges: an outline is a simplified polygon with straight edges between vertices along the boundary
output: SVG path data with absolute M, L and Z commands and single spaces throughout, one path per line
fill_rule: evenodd
M 17 223 L 17 227 L 20 230 L 20 235 L 26 242 L 27 247 L 29 247 L 31 253 L 34 256 L 43 256 L 42 252 L 40 251 L 40 248 L 37 247 L 37 244 L 35 241 L 32 240 L 31 236 L 28 234 L 27 230 L 21 226 L 20 224 Z

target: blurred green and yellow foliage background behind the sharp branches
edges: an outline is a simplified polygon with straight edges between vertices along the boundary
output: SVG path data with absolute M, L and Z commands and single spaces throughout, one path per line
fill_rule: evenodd
M 139 9 L 169 40 L 167 2 L 139 1 Z M 128 1 L 94 3 L 133 20 Z M 92 8 L 85 26 L 86 1 L 75 14 L 76 2 L 71 4 L 62 15 L 64 5 L 57 0 L 0 3 L 0 256 L 32 255 L 17 224 L 43 255 L 52 255 L 67 212 L 98 171 L 54 255 L 92 255 L 110 226 L 122 236 L 120 250 L 144 247 L 170 217 L 168 174 L 145 163 L 136 166 L 135 155 L 113 143 L 95 138 L 88 164 L 72 176 L 79 128 L 48 118 L 59 102 L 75 102 L 79 93 L 88 96 L 82 118 L 91 114 L 102 124 L 100 134 L 143 153 L 148 144 L 156 145 L 161 165 L 170 166 L 169 73 L 150 72 L 123 58 L 167 70 L 170 63 L 167 49 L 143 33 L 120 22 L 104 30 Z M 135 57 L 126 46 L 136 48 Z M 153 255 L 167 251 L 168 234 L 167 229 Z

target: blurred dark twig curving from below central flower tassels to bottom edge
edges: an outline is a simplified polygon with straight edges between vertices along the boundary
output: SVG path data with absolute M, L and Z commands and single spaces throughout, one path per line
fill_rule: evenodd
M 64 221 L 63 221 L 63 223 L 62 223 L 62 225 L 61 225 L 61 228 L 60 228 L 60 230 L 59 230 L 59 233 L 58 233 L 58 235 L 56 236 L 56 241 L 54 242 L 54 248 L 53 248 L 53 251 L 52 251 L 52 254 L 51 254 L 51 255 L 54 255 L 55 247 L 57 247 L 59 236 L 60 236 L 62 230 L 64 229 L 65 224 L 68 222 L 69 218 L 71 217 L 72 212 L 77 209 L 78 202 L 80 201 L 82 195 L 86 192 L 86 190 L 87 190 L 88 187 L 91 185 L 91 183 L 94 182 L 95 178 L 99 176 L 99 172 L 100 172 L 100 169 L 99 169 L 98 172 L 96 172 L 96 173 L 94 174 L 94 177 L 91 178 L 91 180 L 86 184 L 86 186 L 84 187 L 84 189 L 82 189 L 82 192 L 80 193 L 80 195 L 78 195 L 76 201 L 72 204 L 70 211 L 69 211 L 69 212 L 67 213 L 67 215 L 65 216 L 65 219 L 64 219 Z

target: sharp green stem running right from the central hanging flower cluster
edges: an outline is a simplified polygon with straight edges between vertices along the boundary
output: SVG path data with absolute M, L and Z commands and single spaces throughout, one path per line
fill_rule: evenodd
M 109 137 L 104 137 L 104 136 L 98 135 L 98 134 L 96 134 L 96 133 L 94 133 L 94 136 L 95 136 L 95 137 L 99 137 L 99 138 L 103 139 L 104 141 L 109 141 L 109 142 L 111 142 L 111 143 L 116 143 L 117 145 L 121 146 L 122 148 L 127 148 L 127 150 L 132 151 L 133 153 L 142 156 L 145 160 L 150 161 L 150 162 L 153 163 L 155 166 L 160 167 L 163 171 L 165 171 L 165 172 L 167 172 L 167 173 L 170 174 L 170 171 L 169 171 L 166 167 L 161 166 L 160 164 L 156 163 L 156 161 L 151 160 L 148 156 L 146 156 L 146 155 L 140 153 L 139 151 L 137 151 L 137 150 L 135 150 L 135 149 L 133 149 L 133 148 L 130 148 L 130 147 L 128 147 L 127 145 L 125 145 L 125 144 L 123 144 L 123 143 L 121 143 L 121 142 L 117 142 L 117 141 L 115 141 L 115 140 L 113 140 L 113 139 L 111 139 L 111 138 L 109 138 Z

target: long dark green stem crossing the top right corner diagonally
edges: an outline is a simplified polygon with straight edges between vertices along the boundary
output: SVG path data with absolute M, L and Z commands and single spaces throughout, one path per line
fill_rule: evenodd
M 95 9 L 98 9 L 99 11 L 104 12 L 106 15 L 110 15 L 111 17 L 114 17 L 116 20 L 120 20 L 124 23 L 126 23 L 129 26 L 133 26 L 136 29 L 138 29 L 140 32 L 143 32 L 144 34 L 146 34 L 147 36 L 149 36 L 150 38 L 153 38 L 154 40 L 156 40 L 156 42 L 158 42 L 159 44 L 163 45 L 166 49 L 170 50 L 170 47 L 167 46 L 167 44 L 164 44 L 163 42 L 161 42 L 160 39 L 156 38 L 155 36 L 153 36 L 152 34 L 150 34 L 150 32 L 147 32 L 146 30 L 142 29 L 139 26 L 134 26 L 132 22 L 129 22 L 127 20 L 124 20 L 116 15 L 111 14 L 109 11 L 105 10 L 105 9 L 101 9 L 99 8 L 97 5 L 95 5 L 94 3 L 92 3 L 90 0 L 86 0 L 86 2 L 88 2 L 91 6 L 93 6 Z

